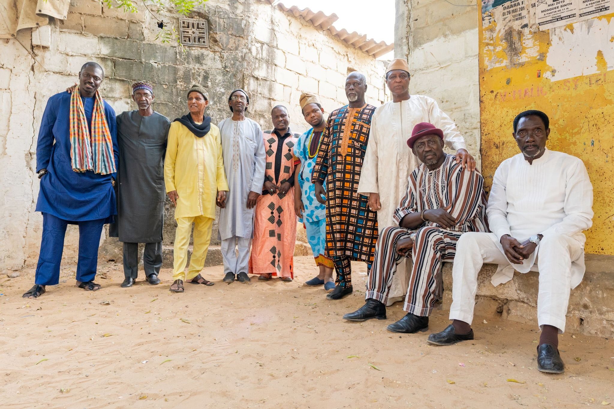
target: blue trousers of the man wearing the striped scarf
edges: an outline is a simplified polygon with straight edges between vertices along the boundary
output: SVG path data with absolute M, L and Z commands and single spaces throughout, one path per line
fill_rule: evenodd
M 68 224 L 79 226 L 79 262 L 77 262 L 77 281 L 87 283 L 96 277 L 98 267 L 98 246 L 103 232 L 104 219 L 87 221 L 68 221 L 42 213 L 41 254 L 36 266 L 34 283 L 38 285 L 57 285 L 60 282 L 60 262 L 64 250 L 64 235 Z

